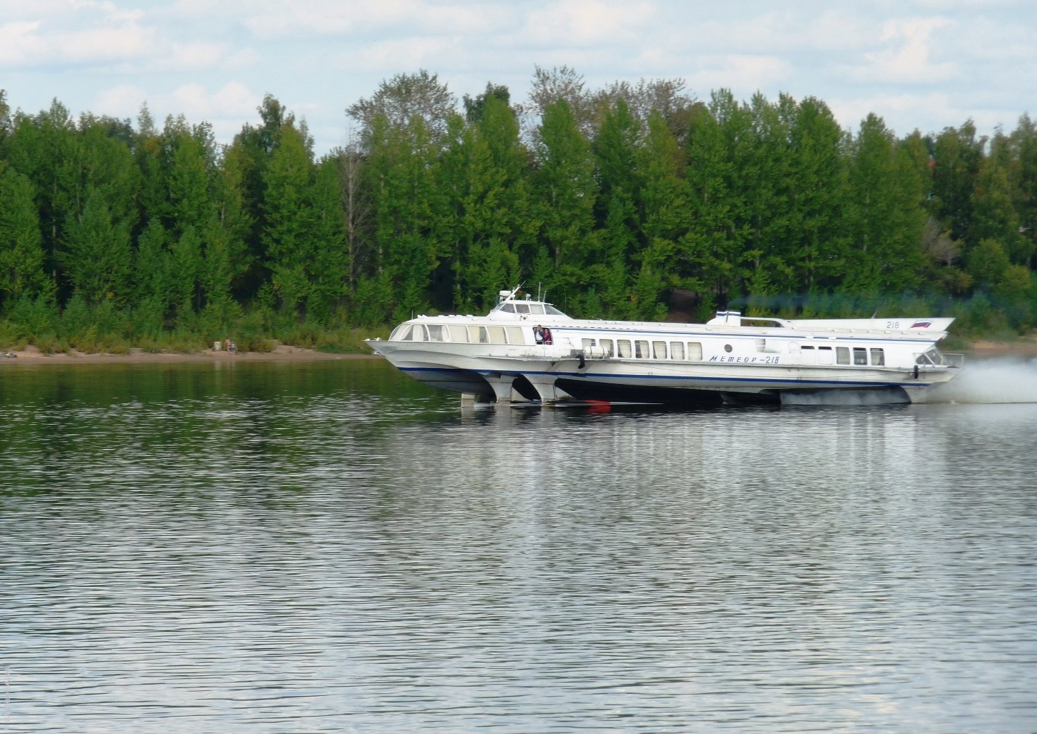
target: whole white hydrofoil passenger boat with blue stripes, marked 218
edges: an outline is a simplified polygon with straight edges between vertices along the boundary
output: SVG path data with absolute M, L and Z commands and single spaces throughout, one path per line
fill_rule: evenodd
M 416 379 L 498 402 L 777 402 L 834 390 L 906 402 L 962 364 L 936 348 L 952 318 L 585 320 L 517 292 L 502 290 L 485 316 L 418 316 L 367 344 Z

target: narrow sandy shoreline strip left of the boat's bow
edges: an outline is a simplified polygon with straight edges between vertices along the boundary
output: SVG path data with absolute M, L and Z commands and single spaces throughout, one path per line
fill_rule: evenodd
M 13 354 L 15 358 L 6 357 Z M 143 351 L 132 348 L 124 355 L 87 354 L 73 349 L 71 352 L 45 355 L 30 345 L 15 351 L 0 350 L 3 365 L 71 365 L 71 364 L 175 364 L 181 362 L 314 362 L 319 360 L 370 360 L 377 355 L 353 352 L 333 354 L 279 344 L 273 351 L 223 351 L 201 349 L 192 352 Z

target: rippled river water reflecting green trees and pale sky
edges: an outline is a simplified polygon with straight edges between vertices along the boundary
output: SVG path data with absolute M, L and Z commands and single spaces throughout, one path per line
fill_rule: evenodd
M 4 365 L 0 731 L 1033 732 L 1037 366 L 988 367 L 595 413 Z

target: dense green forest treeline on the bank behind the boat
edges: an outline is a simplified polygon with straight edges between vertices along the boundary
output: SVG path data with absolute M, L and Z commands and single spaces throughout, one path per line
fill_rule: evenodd
M 399 75 L 316 157 L 275 97 L 233 141 L 0 92 L 0 343 L 313 345 L 524 282 L 585 317 L 740 306 L 785 315 L 1037 318 L 1037 129 L 898 138 L 817 98 L 708 101 L 679 80 L 460 104 Z

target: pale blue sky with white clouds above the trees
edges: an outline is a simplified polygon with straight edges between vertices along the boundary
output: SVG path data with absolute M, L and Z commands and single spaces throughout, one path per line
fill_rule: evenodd
M 981 135 L 1037 116 L 1034 0 L 0 0 L 0 89 L 35 114 L 62 103 L 129 118 L 146 104 L 208 122 L 221 143 L 273 94 L 319 156 L 356 133 L 345 109 L 427 69 L 457 97 L 537 66 L 587 88 L 680 79 L 708 102 L 818 97 L 857 130 L 972 119 Z

